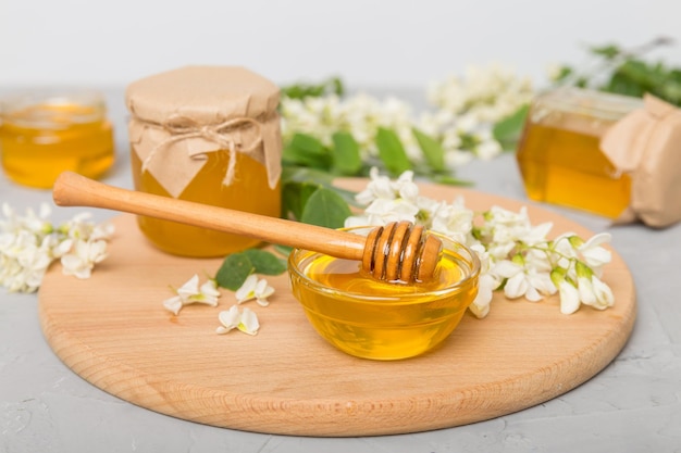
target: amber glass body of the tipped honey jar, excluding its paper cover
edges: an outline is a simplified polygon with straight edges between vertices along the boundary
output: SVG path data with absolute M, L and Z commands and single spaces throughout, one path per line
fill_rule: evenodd
M 528 197 L 617 218 L 629 205 L 631 178 L 603 153 L 600 139 L 642 104 L 572 87 L 538 96 L 517 152 Z

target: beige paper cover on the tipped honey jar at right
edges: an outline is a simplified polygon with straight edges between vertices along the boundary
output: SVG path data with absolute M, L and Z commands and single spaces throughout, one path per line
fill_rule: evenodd
M 666 227 L 681 221 L 681 109 L 646 95 L 643 109 L 606 131 L 600 149 L 631 175 L 631 202 L 618 223 Z

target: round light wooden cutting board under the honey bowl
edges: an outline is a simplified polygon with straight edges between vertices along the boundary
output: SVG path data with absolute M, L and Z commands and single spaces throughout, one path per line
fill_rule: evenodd
M 366 180 L 345 181 L 361 189 Z M 486 210 L 524 203 L 472 190 L 421 185 L 421 193 Z M 529 207 L 552 235 L 592 234 L 546 210 Z M 54 266 L 39 291 L 47 341 L 75 373 L 100 389 L 149 410 L 219 427 L 297 436 L 372 436 L 423 431 L 490 419 L 542 403 L 589 380 L 622 349 L 635 317 L 631 274 L 614 252 L 604 280 L 612 309 L 561 315 L 557 297 L 537 303 L 496 294 L 484 319 L 465 316 L 450 338 L 416 358 L 374 362 L 322 340 L 286 275 L 269 277 L 276 292 L 251 337 L 219 336 L 218 307 L 189 305 L 174 316 L 162 302 L 194 274 L 201 282 L 222 260 L 171 256 L 152 248 L 132 215 L 114 221 L 110 256 L 77 280 Z

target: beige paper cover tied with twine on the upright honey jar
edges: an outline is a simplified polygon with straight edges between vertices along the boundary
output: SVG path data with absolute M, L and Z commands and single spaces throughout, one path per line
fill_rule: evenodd
M 271 188 L 281 176 L 280 90 L 244 67 L 186 66 L 128 85 L 125 101 L 129 140 L 148 171 L 178 197 L 207 161 L 225 151 L 230 164 L 223 179 L 235 174 L 234 153 L 263 164 Z M 218 188 L 216 188 L 218 189 Z

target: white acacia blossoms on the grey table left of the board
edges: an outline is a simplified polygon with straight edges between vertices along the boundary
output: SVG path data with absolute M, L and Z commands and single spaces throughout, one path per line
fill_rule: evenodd
M 47 203 L 38 212 L 16 213 L 2 204 L 0 218 L 0 286 L 10 292 L 34 292 L 52 262 L 59 260 L 62 272 L 89 278 L 95 264 L 107 257 L 110 224 L 96 225 L 89 214 L 74 216 L 62 225 L 49 221 Z

